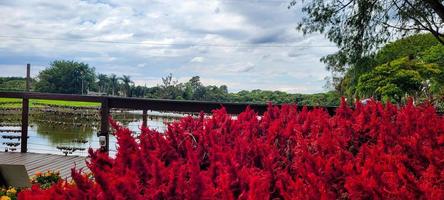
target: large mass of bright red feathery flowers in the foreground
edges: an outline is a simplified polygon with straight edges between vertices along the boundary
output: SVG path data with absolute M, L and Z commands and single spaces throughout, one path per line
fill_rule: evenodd
M 19 198 L 444 199 L 444 119 L 431 106 L 221 109 L 139 137 L 112 125 L 118 153 L 89 151 L 94 180 L 73 170 L 74 185 Z

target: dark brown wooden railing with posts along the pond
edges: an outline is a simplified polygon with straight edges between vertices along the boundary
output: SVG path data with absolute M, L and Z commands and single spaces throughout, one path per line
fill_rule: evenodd
M 106 138 L 104 151 L 109 151 L 109 111 L 111 108 L 133 109 L 143 111 L 143 124 L 147 124 L 147 111 L 168 111 L 168 112 L 204 112 L 211 113 L 214 109 L 224 107 L 229 114 L 239 114 L 248 106 L 255 112 L 262 114 L 267 110 L 267 104 L 255 103 L 220 103 L 207 101 L 182 101 L 146 98 L 123 98 L 112 96 L 84 96 L 72 94 L 52 94 L 36 92 L 0 92 L 3 98 L 22 99 L 22 129 L 21 129 L 21 149 L 20 152 L 28 151 L 28 117 L 29 99 L 66 100 L 82 102 L 98 102 L 100 107 L 100 136 Z M 313 109 L 314 107 L 307 107 Z M 336 107 L 323 107 L 330 114 L 333 114 Z

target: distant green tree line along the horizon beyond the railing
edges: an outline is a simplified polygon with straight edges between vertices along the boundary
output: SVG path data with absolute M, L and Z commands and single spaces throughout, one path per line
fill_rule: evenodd
M 95 68 L 86 63 L 67 60 L 53 61 L 32 81 L 32 91 L 47 93 L 216 102 L 298 103 L 313 106 L 337 106 L 340 100 L 340 96 L 334 91 L 319 94 L 290 94 L 257 89 L 233 93 L 228 91 L 226 85 L 204 85 L 199 76 L 180 83 L 172 74 L 163 77 L 161 84 L 147 87 L 136 85 L 128 75 L 96 73 Z M 0 90 L 23 91 L 24 88 L 24 78 L 0 77 Z

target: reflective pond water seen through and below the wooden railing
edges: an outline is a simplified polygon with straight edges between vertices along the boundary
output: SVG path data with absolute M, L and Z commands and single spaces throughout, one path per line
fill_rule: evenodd
M 82 113 L 79 115 L 78 113 Z M 134 134 L 140 133 L 141 112 L 112 112 L 111 115 Z M 162 115 L 168 117 L 161 117 Z M 166 124 L 178 114 L 148 113 L 148 126 L 163 132 Z M 20 151 L 20 142 L 9 136 L 20 136 L 21 115 L 18 111 L 0 111 L 0 151 Z M 86 156 L 88 148 L 99 148 L 98 111 L 42 112 L 31 111 L 28 127 L 28 151 L 49 154 Z M 14 144 L 15 143 L 15 144 Z M 14 146 L 17 145 L 17 146 Z M 15 149 L 15 150 L 14 150 Z M 72 151 L 75 149 L 74 151 Z M 116 138 L 110 135 L 110 155 L 116 153 Z

